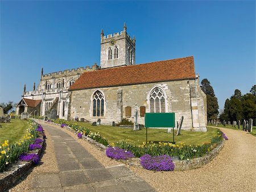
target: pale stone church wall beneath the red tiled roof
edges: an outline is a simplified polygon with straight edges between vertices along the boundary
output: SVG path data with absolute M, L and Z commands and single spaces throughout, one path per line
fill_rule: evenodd
M 195 84 L 197 84 L 195 80 L 181 80 L 72 91 L 69 118 L 74 119 L 75 116 L 78 116 L 79 119 L 85 118 L 91 122 L 100 118 L 102 123 L 111 124 L 113 121 L 120 122 L 122 118 L 126 118 L 125 107 L 130 106 L 131 117 L 127 119 L 133 121 L 135 105 L 138 106 L 138 110 L 141 106 L 145 106 L 146 112 L 150 112 L 148 94 L 150 94 L 153 87 L 158 86 L 167 95 L 166 112 L 175 112 L 175 120 L 178 122 L 181 116 L 184 116 L 183 130 L 193 130 L 190 86 Z M 197 86 L 197 89 L 197 92 L 199 92 L 196 98 L 198 102 L 197 118 L 200 119 L 198 120 L 200 126 L 205 128 L 204 93 L 200 92 L 199 86 Z M 100 90 L 105 97 L 104 117 L 92 116 L 91 98 L 96 90 Z M 138 111 L 138 114 L 140 114 L 140 111 Z M 144 124 L 143 116 L 139 116 L 138 123 Z M 194 131 L 200 130 L 197 128 Z

